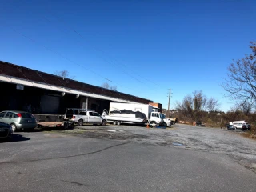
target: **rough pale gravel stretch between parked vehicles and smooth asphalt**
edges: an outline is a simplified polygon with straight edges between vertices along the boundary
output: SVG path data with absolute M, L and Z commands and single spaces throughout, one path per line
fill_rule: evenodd
M 256 141 L 242 137 L 243 132 L 239 130 L 175 124 L 167 129 L 142 126 L 86 125 L 58 132 L 79 137 L 117 139 L 226 154 L 256 173 Z

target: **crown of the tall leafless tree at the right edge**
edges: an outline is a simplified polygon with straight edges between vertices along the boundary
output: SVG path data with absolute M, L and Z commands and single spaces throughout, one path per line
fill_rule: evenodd
M 238 59 L 228 67 L 222 87 L 227 97 L 240 102 L 256 102 L 256 42 L 250 42 L 252 54 Z

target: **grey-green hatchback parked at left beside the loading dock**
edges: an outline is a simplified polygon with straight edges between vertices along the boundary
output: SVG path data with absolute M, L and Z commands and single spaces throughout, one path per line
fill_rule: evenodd
M 13 132 L 17 130 L 34 130 L 34 128 L 38 126 L 32 114 L 16 110 L 0 112 L 0 122 L 9 124 Z

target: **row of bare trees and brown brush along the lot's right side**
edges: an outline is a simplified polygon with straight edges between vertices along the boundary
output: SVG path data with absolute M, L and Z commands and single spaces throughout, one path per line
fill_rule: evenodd
M 195 90 L 192 94 L 186 95 L 182 102 L 175 103 L 174 111 L 177 118 L 190 122 L 203 118 L 206 122 L 217 121 L 219 124 L 241 119 L 255 122 L 256 42 L 250 42 L 249 47 L 250 54 L 230 63 L 226 78 L 221 84 L 225 96 L 235 102 L 230 111 L 224 114 L 218 109 L 220 104 L 217 99 L 207 98 L 202 90 Z

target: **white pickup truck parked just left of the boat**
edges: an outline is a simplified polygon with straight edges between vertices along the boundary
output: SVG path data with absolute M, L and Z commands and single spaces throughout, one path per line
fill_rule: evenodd
M 102 117 L 94 110 L 77 108 L 66 109 L 64 121 L 68 122 L 69 125 L 78 124 L 78 126 L 83 126 L 84 123 L 106 125 L 106 118 Z

